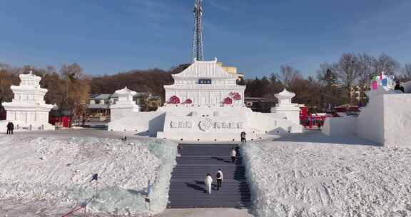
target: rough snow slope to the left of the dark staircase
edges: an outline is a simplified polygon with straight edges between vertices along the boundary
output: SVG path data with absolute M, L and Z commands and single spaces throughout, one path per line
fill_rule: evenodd
M 124 142 L 113 138 L 0 136 L 0 213 L 67 213 L 93 197 L 93 173 L 99 176 L 98 196 L 88 211 L 131 216 L 161 213 L 168 203 L 176 155 L 176 143 L 157 139 Z M 151 212 L 144 202 L 148 180 L 153 183 Z

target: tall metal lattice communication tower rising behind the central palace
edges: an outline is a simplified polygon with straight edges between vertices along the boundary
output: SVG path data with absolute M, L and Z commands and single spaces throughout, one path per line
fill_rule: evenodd
M 194 0 L 194 36 L 192 58 L 203 61 L 203 0 Z

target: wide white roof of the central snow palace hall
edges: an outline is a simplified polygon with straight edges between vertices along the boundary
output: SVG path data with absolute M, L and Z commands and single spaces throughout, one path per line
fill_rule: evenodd
M 180 74 L 173 75 L 174 78 L 220 78 L 220 79 L 237 79 L 234 74 L 229 74 L 223 68 L 217 65 L 217 58 L 213 61 L 195 60 L 191 66 Z

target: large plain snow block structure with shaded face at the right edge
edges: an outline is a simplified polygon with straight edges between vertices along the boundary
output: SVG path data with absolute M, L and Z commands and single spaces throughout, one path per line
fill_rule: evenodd
M 327 118 L 323 133 L 359 136 L 384 146 L 411 146 L 410 105 L 411 94 L 385 91 L 379 86 L 357 118 Z

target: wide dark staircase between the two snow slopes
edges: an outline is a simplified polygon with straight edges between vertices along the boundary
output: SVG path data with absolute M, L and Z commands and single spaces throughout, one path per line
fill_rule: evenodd
M 237 148 L 237 161 L 231 163 L 230 150 Z M 250 189 L 237 145 L 180 144 L 177 165 L 171 176 L 168 208 L 249 208 Z M 221 191 L 215 174 L 223 171 Z M 213 177 L 211 194 L 206 193 L 204 178 Z

